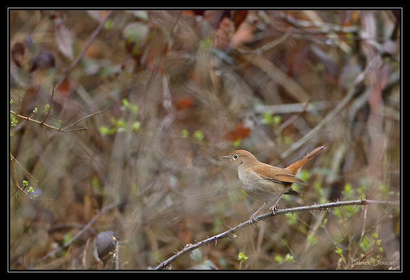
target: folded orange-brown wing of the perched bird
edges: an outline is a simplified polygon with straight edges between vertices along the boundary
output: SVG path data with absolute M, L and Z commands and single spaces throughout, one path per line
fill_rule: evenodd
M 251 168 L 264 179 L 278 183 L 302 183 L 306 184 L 302 179 L 296 177 L 291 171 L 268 164 L 259 164 Z

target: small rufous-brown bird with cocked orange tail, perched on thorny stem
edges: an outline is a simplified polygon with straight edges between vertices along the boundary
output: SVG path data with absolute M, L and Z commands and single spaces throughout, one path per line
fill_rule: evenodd
M 305 163 L 309 162 L 323 149 L 323 146 L 317 147 L 285 169 L 261 163 L 253 154 L 245 150 L 236 150 L 229 155 L 222 156 L 222 158 L 228 158 L 232 164 L 238 167 L 239 181 L 243 190 L 253 198 L 263 201 L 262 207 L 251 216 L 249 223 L 253 225 L 252 220 L 267 203 L 275 202 L 269 208 L 275 214 L 276 206 L 283 194 L 302 195 L 293 190 L 292 185 L 294 183 L 306 184 L 306 182 L 295 175 Z

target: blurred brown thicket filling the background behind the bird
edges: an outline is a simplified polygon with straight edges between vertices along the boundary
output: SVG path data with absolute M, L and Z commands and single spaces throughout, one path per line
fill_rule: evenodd
M 246 221 L 260 202 L 221 159 L 239 148 L 285 167 L 326 147 L 279 208 L 399 201 L 400 15 L 11 10 L 10 110 L 88 129 L 10 113 L 10 269 L 154 268 Z M 171 268 L 400 269 L 397 208 L 280 215 L 234 237 Z

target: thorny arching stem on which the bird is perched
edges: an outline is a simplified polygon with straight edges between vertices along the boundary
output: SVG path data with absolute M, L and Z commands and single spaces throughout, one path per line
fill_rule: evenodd
M 289 209 L 279 209 L 275 211 L 275 214 L 272 212 L 262 214 L 260 216 L 257 216 L 253 222 L 259 222 L 263 219 L 272 217 L 272 216 L 277 216 L 277 215 L 283 215 L 283 214 L 288 214 L 288 213 L 295 213 L 295 212 L 304 212 L 304 211 L 314 211 L 314 210 L 327 210 L 329 208 L 333 207 L 341 207 L 341 206 L 348 206 L 348 205 L 369 205 L 369 204 L 380 204 L 380 205 L 388 205 L 388 206 L 399 206 L 399 203 L 395 202 L 388 202 L 388 201 L 373 201 L 373 200 L 366 200 L 366 199 L 358 199 L 355 201 L 337 201 L 337 202 L 331 202 L 331 203 L 325 203 L 325 204 L 315 204 L 315 205 L 310 205 L 310 206 L 301 206 L 301 207 L 295 207 L 295 208 L 289 208 Z M 232 235 L 232 233 L 243 229 L 245 227 L 248 227 L 251 225 L 249 221 L 244 222 L 242 224 L 237 225 L 236 227 L 230 228 L 229 230 L 219 233 L 217 235 L 214 235 L 212 237 L 209 237 L 207 239 L 204 239 L 202 241 L 199 241 L 193 245 L 185 246 L 181 249 L 181 251 L 178 251 L 176 254 L 168 258 L 166 261 L 161 262 L 157 267 L 155 267 L 155 270 L 160 270 L 165 268 L 166 266 L 169 266 L 171 263 L 176 261 L 179 257 L 182 255 L 185 255 L 186 253 L 193 251 L 199 247 L 202 247 L 204 245 L 210 244 L 217 242 L 219 239 L 229 237 Z

